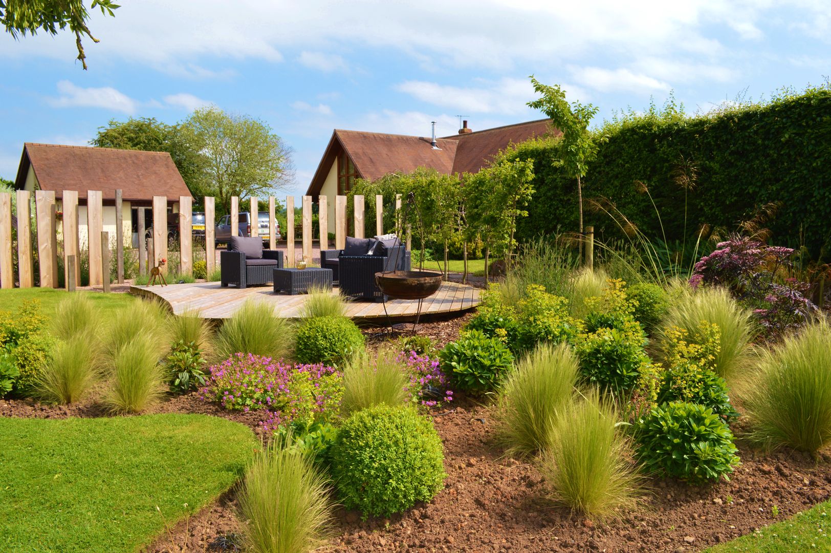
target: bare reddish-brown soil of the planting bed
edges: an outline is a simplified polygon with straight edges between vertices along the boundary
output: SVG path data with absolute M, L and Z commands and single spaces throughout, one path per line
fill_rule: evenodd
M 455 339 L 465 318 L 428 322 L 418 333 L 446 343 Z M 386 339 L 376 336 L 370 342 Z M 170 398 L 151 412 L 225 417 L 259 434 L 257 413 L 228 412 L 195 393 Z M 445 443 L 445 489 L 430 503 L 390 519 L 361 521 L 358 513 L 337 509 L 334 551 L 701 551 L 831 498 L 831 457 L 815 461 L 796 452 L 763 455 L 740 443 L 742 465 L 731 481 L 696 487 L 648 480 L 636 510 L 588 521 L 547 498 L 533 462 L 503 457 L 493 442 L 492 412 L 475 398 L 457 394 L 453 405 L 430 415 Z M 51 407 L 0 400 L 0 416 L 101 417 L 106 412 L 95 402 Z M 233 538 L 243 524 L 236 512 L 231 491 L 170 526 L 146 551 L 234 551 Z

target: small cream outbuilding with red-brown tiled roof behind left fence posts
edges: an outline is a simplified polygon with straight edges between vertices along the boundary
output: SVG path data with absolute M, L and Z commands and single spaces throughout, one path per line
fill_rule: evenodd
M 124 235 L 137 244 L 139 208 L 153 196 L 167 197 L 168 211 L 179 210 L 179 196 L 189 196 L 170 154 L 163 151 L 118 150 L 57 144 L 23 145 L 15 180 L 17 190 L 53 190 L 62 210 L 64 190 L 78 193 L 78 232 L 86 236 L 86 191 L 101 190 L 104 229 L 116 235 L 116 190 L 121 190 Z M 147 221 L 150 224 L 150 220 Z M 129 226 L 128 226 L 129 225 Z

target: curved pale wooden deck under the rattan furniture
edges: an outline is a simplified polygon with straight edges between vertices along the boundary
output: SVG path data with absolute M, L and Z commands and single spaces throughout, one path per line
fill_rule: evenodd
M 332 294 L 337 294 L 337 288 Z M 246 289 L 222 288 L 218 282 L 196 284 L 170 284 L 168 286 L 130 286 L 130 294 L 151 299 L 162 299 L 170 305 L 174 314 L 183 314 L 196 310 L 202 318 L 229 318 L 247 299 L 272 304 L 274 313 L 279 317 L 297 318 L 305 294 L 290 296 L 274 294 L 272 287 L 257 286 Z M 450 314 L 464 312 L 479 305 L 479 289 L 468 284 L 445 282 L 440 289 L 424 300 L 421 314 Z M 386 302 L 386 312 L 396 322 L 414 320 L 418 302 L 406 299 L 391 299 Z M 367 301 L 347 302 L 347 317 L 352 319 L 377 319 L 383 323 L 386 319 L 384 304 Z

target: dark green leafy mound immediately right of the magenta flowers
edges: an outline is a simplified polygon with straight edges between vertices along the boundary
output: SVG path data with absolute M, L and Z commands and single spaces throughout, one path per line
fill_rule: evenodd
M 441 367 L 466 392 L 489 392 L 499 387 L 510 372 L 514 355 L 499 338 L 468 330 L 439 353 Z

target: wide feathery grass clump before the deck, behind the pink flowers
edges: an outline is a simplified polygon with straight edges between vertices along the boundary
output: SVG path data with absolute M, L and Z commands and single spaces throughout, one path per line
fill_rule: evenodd
M 279 359 L 292 351 L 294 333 L 288 318 L 274 314 L 273 306 L 247 300 L 216 334 L 216 356 L 228 359 L 234 353 L 253 353 Z

